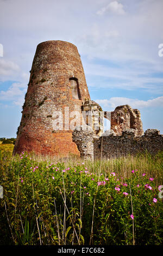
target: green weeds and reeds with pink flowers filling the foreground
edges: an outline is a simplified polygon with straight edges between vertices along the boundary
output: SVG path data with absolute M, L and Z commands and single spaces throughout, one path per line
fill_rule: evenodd
M 0 245 L 161 245 L 162 159 L 3 153 Z

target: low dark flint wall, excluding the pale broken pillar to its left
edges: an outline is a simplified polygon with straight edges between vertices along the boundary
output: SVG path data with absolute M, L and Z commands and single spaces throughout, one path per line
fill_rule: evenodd
M 163 135 L 158 130 L 148 129 L 143 136 L 135 136 L 134 129 L 122 132 L 121 136 L 110 134 L 99 138 L 93 138 L 94 159 L 135 155 L 148 151 L 156 154 L 163 150 Z

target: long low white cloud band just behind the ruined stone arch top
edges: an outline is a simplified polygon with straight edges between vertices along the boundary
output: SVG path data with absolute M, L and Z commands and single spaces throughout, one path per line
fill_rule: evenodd
M 152 100 L 137 100 L 126 97 L 111 97 L 109 100 L 96 100 L 102 107 L 107 107 L 108 111 L 114 110 L 117 106 L 129 105 L 132 108 L 148 108 L 148 107 L 163 107 L 163 96 L 156 97 Z

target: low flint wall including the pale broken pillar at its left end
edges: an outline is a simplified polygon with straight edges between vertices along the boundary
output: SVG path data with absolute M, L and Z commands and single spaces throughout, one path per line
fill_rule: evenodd
M 97 137 L 93 130 L 75 130 L 73 141 L 77 144 L 80 156 L 85 159 L 109 159 L 112 157 L 135 155 L 137 153 L 156 154 L 163 150 L 163 135 L 156 129 L 148 129 L 143 136 L 135 136 L 134 129 L 128 129 L 117 136 L 113 131 L 106 131 Z

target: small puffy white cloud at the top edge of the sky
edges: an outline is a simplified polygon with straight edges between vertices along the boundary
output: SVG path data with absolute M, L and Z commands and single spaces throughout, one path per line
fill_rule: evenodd
M 97 11 L 98 15 L 103 15 L 106 12 L 111 12 L 118 15 L 125 14 L 125 11 L 123 9 L 123 4 L 118 3 L 117 1 L 113 1 L 106 5 L 106 7 L 103 7 L 102 9 Z

